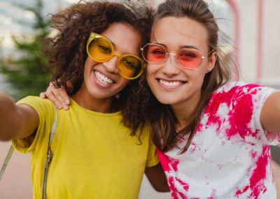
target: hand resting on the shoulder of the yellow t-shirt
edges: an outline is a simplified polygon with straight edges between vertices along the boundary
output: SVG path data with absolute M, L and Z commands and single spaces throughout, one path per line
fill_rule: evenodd
M 64 86 L 61 88 L 55 88 L 55 86 L 50 82 L 47 90 L 45 90 L 45 92 L 41 92 L 40 97 L 50 99 L 57 109 L 69 109 L 70 100 Z

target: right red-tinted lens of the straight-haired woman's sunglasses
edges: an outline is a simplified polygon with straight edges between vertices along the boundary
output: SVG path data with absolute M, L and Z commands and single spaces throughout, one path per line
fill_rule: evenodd
M 197 68 L 202 64 L 202 55 L 195 49 L 183 48 L 177 56 L 180 64 L 189 69 Z

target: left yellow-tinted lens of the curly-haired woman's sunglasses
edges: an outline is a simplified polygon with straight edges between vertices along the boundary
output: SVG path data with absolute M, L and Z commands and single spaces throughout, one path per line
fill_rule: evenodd
M 104 37 L 96 37 L 88 44 L 88 53 L 96 62 L 106 62 L 111 59 L 113 46 Z

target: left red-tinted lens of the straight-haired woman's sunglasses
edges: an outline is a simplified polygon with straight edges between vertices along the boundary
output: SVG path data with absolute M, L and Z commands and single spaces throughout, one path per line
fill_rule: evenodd
M 142 51 L 143 57 L 147 62 L 158 64 L 165 60 L 165 48 L 160 45 L 147 44 Z

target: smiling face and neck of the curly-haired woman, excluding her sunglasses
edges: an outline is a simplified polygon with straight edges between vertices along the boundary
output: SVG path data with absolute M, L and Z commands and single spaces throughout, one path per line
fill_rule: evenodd
M 139 55 L 141 36 L 132 26 L 113 23 L 101 35 L 113 43 L 117 53 Z M 104 104 L 104 109 L 110 109 L 113 96 L 129 82 L 118 73 L 117 62 L 117 56 L 103 63 L 94 62 L 87 57 L 83 84 L 73 97 L 78 104 L 88 109 L 94 109 L 96 104 Z

